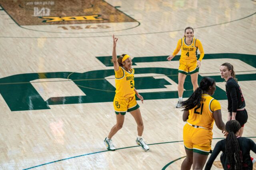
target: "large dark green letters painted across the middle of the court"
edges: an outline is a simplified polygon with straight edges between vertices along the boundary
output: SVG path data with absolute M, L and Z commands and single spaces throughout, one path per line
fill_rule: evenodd
M 136 65 L 136 63 L 140 62 L 147 63 L 166 61 L 167 57 L 168 56 L 135 57 L 133 59 L 133 64 Z M 238 59 L 244 63 L 244 66 L 248 64 L 256 68 L 255 57 L 255 55 L 244 54 L 206 54 L 204 56 L 204 60 L 224 59 L 226 61 L 227 59 Z M 106 66 L 113 66 L 113 64 L 110 62 L 111 56 L 96 58 Z M 173 59 L 173 61 L 178 60 L 179 57 L 175 57 Z M 157 64 L 157 66 L 159 66 L 159 64 Z M 134 81 L 136 82 L 137 90 L 146 90 L 144 92 L 140 92 L 145 100 L 177 98 L 178 91 L 169 90 L 168 86 L 172 85 L 169 81 L 170 79 L 172 80 L 171 82 L 178 84 L 178 69 L 149 67 L 136 68 L 135 70 L 136 74 L 142 75 L 140 77 L 135 76 Z M 147 76 L 147 74 L 160 75 L 160 77 L 154 78 L 154 76 Z M 204 77 L 203 75 L 204 74 L 198 75 L 198 81 Z M 113 102 L 116 89 L 114 85 L 106 79 L 110 76 L 114 76 L 113 69 L 92 70 L 83 73 L 43 72 L 16 74 L 0 78 L 0 94 L 11 111 L 50 109 L 51 105 L 62 104 Z M 210 77 L 214 78 L 216 82 L 223 82 L 220 75 Z M 236 77 L 239 81 L 256 80 L 256 74 L 252 73 L 238 74 Z M 66 81 L 72 81 L 74 82 L 74 85 L 80 88 L 80 90 L 86 95 L 63 97 L 51 96 L 50 98 L 44 100 L 31 82 L 33 80 L 47 78 L 62 78 L 66 79 Z M 189 77 L 187 78 L 187 81 L 188 83 L 184 84 L 184 89 L 186 89 L 183 94 L 184 98 L 188 98 L 193 92 L 193 86 Z M 104 86 L 102 86 L 102 84 L 104 84 Z M 217 100 L 226 100 L 226 92 L 216 86 L 216 91 L 213 97 Z M 118 102 L 116 102 L 115 105 L 116 107 L 120 107 Z M 200 109 L 202 110 L 202 108 L 197 109 L 198 110 L 195 110 L 196 113 L 202 114 L 202 112 L 200 112 Z

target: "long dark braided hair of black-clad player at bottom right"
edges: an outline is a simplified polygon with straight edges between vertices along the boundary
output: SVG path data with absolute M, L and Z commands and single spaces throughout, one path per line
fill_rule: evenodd
M 236 120 L 230 120 L 226 123 L 226 137 L 225 153 L 230 164 L 230 170 L 242 169 L 242 158 L 240 156 L 240 148 L 235 133 L 240 129 L 240 123 Z

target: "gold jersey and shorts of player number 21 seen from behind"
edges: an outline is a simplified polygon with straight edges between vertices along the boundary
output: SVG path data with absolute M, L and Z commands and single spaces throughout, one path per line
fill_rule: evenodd
M 200 104 L 200 107 L 189 110 L 188 120 L 183 128 L 183 140 L 186 149 L 208 155 L 212 145 L 213 112 L 221 107 L 208 94 L 202 94 Z

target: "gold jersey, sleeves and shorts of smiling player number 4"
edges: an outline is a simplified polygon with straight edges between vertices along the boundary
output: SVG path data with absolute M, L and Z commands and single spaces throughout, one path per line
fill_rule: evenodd
M 202 61 L 204 57 L 204 49 L 201 41 L 196 38 L 192 39 L 192 43 L 187 45 L 185 38 L 182 38 L 178 41 L 177 47 L 172 53 L 173 56 L 176 56 L 181 49 L 180 55 L 180 66 L 179 72 L 182 74 L 193 74 L 199 71 L 197 67 L 197 49 L 200 51 L 200 57 L 198 60 Z

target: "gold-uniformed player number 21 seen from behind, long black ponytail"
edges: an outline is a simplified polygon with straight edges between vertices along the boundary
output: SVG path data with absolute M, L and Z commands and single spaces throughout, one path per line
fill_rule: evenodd
M 224 131 L 220 103 L 212 98 L 216 90 L 213 78 L 204 77 L 200 87 L 188 98 L 181 102 L 184 108 L 183 121 L 187 121 L 183 128 L 183 140 L 186 158 L 182 162 L 182 170 L 202 170 L 212 145 L 212 127 L 215 121 L 217 127 Z

